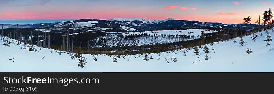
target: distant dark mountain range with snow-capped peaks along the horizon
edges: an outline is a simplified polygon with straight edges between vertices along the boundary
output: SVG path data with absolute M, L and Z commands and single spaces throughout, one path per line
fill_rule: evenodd
M 245 29 L 245 24 L 222 24 L 211 22 L 199 22 L 199 21 L 185 21 L 168 18 L 165 20 L 150 20 L 146 18 L 114 18 L 108 20 L 101 19 L 80 19 L 74 21 L 62 21 L 56 23 L 39 23 L 39 24 L 26 24 L 19 25 L 19 28 L 66 28 L 75 24 L 76 29 L 89 30 L 89 31 L 104 31 L 104 30 L 116 30 L 116 31 L 147 31 L 154 29 L 164 28 L 177 28 L 177 27 L 211 27 L 211 28 L 229 28 L 236 29 L 239 26 L 241 29 Z M 16 28 L 16 25 L 2 24 L 8 26 L 8 28 Z M 254 24 L 249 24 L 249 28 L 254 28 Z

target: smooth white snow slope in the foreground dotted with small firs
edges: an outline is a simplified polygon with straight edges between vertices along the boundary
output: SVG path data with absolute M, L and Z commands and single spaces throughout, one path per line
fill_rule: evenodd
M 272 38 L 274 33 L 269 30 Z M 197 58 L 192 51 L 186 52 L 187 56 L 183 55 L 182 49 L 174 51 L 175 53 L 162 52 L 151 53 L 154 59 L 149 61 L 143 60 L 137 55 L 128 55 L 124 58 L 118 58 L 118 63 L 112 62 L 113 56 L 99 55 L 98 61 L 93 61 L 92 55 L 83 54 L 87 58 L 87 64 L 81 69 L 77 67 L 78 58 L 70 59 L 69 54 L 63 53 L 58 55 L 52 49 L 39 50 L 37 46 L 35 51 L 27 49 L 19 49 L 22 45 L 13 45 L 7 47 L 0 40 L 0 72 L 274 72 L 274 42 L 272 45 L 266 46 L 267 42 L 263 41 L 266 38 L 265 31 L 262 36 L 258 36 L 253 42 L 251 36 L 244 36 L 243 39 L 247 43 L 244 46 L 237 41 L 215 42 L 213 48 L 216 53 L 213 53 L 211 46 L 210 53 L 207 56 L 209 60 L 205 60 L 205 53 L 200 50 L 200 57 Z M 10 41 L 13 42 L 12 39 Z M 253 53 L 246 54 L 246 49 L 249 48 Z M 39 51 L 39 52 L 38 52 Z M 159 55 L 160 54 L 160 55 Z M 44 59 L 42 59 L 42 57 Z M 157 58 L 160 57 L 159 60 Z M 172 62 L 170 58 L 176 57 L 177 62 Z M 9 60 L 12 59 L 13 60 Z M 170 63 L 165 61 L 165 58 Z M 129 60 L 129 61 L 128 61 Z M 13 62 L 14 61 L 14 62 Z

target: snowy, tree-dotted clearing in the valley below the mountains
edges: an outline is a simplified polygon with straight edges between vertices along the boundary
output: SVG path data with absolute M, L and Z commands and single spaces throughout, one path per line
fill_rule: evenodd
M 91 41 L 95 42 L 94 47 L 102 45 L 108 47 L 158 45 L 197 39 L 200 38 L 201 31 L 205 33 L 217 32 L 212 30 L 206 31 L 204 29 L 129 32 L 100 36 Z

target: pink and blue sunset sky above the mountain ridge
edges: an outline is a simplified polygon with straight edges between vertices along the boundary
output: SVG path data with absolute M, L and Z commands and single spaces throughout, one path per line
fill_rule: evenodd
M 223 24 L 255 23 L 274 0 L 0 0 L 0 24 L 50 23 L 75 19 L 147 18 Z

